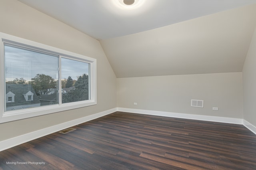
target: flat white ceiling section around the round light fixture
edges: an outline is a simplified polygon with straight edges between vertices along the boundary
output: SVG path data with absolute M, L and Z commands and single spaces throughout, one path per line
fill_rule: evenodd
M 19 0 L 98 40 L 125 36 L 255 3 L 256 0 Z

